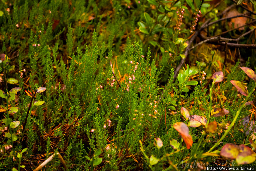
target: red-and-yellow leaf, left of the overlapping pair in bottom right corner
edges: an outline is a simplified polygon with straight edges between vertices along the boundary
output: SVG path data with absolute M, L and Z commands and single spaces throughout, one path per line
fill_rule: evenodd
M 239 148 L 238 145 L 235 144 L 225 144 L 220 151 L 220 155 L 222 155 L 222 157 L 231 160 L 235 159 L 238 154 Z

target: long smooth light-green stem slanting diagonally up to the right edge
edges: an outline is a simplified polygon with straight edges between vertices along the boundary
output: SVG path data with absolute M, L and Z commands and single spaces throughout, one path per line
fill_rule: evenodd
M 210 153 L 215 147 L 217 147 L 217 145 L 220 144 L 220 142 L 226 137 L 226 135 L 230 132 L 231 128 L 234 126 L 235 121 L 237 120 L 238 115 L 240 114 L 241 110 L 243 109 L 243 107 L 245 106 L 245 103 L 247 102 L 247 100 L 249 99 L 249 97 L 252 95 L 253 91 L 255 90 L 255 86 L 254 88 L 250 91 L 250 93 L 247 95 L 245 101 L 243 102 L 243 104 L 240 106 L 239 110 L 236 112 L 236 115 L 233 119 L 233 121 L 231 122 L 230 126 L 228 127 L 228 129 L 225 131 L 225 133 L 222 135 L 222 137 L 219 139 L 219 141 L 217 143 L 214 144 L 214 146 L 212 146 L 212 148 L 208 151 L 208 153 Z

